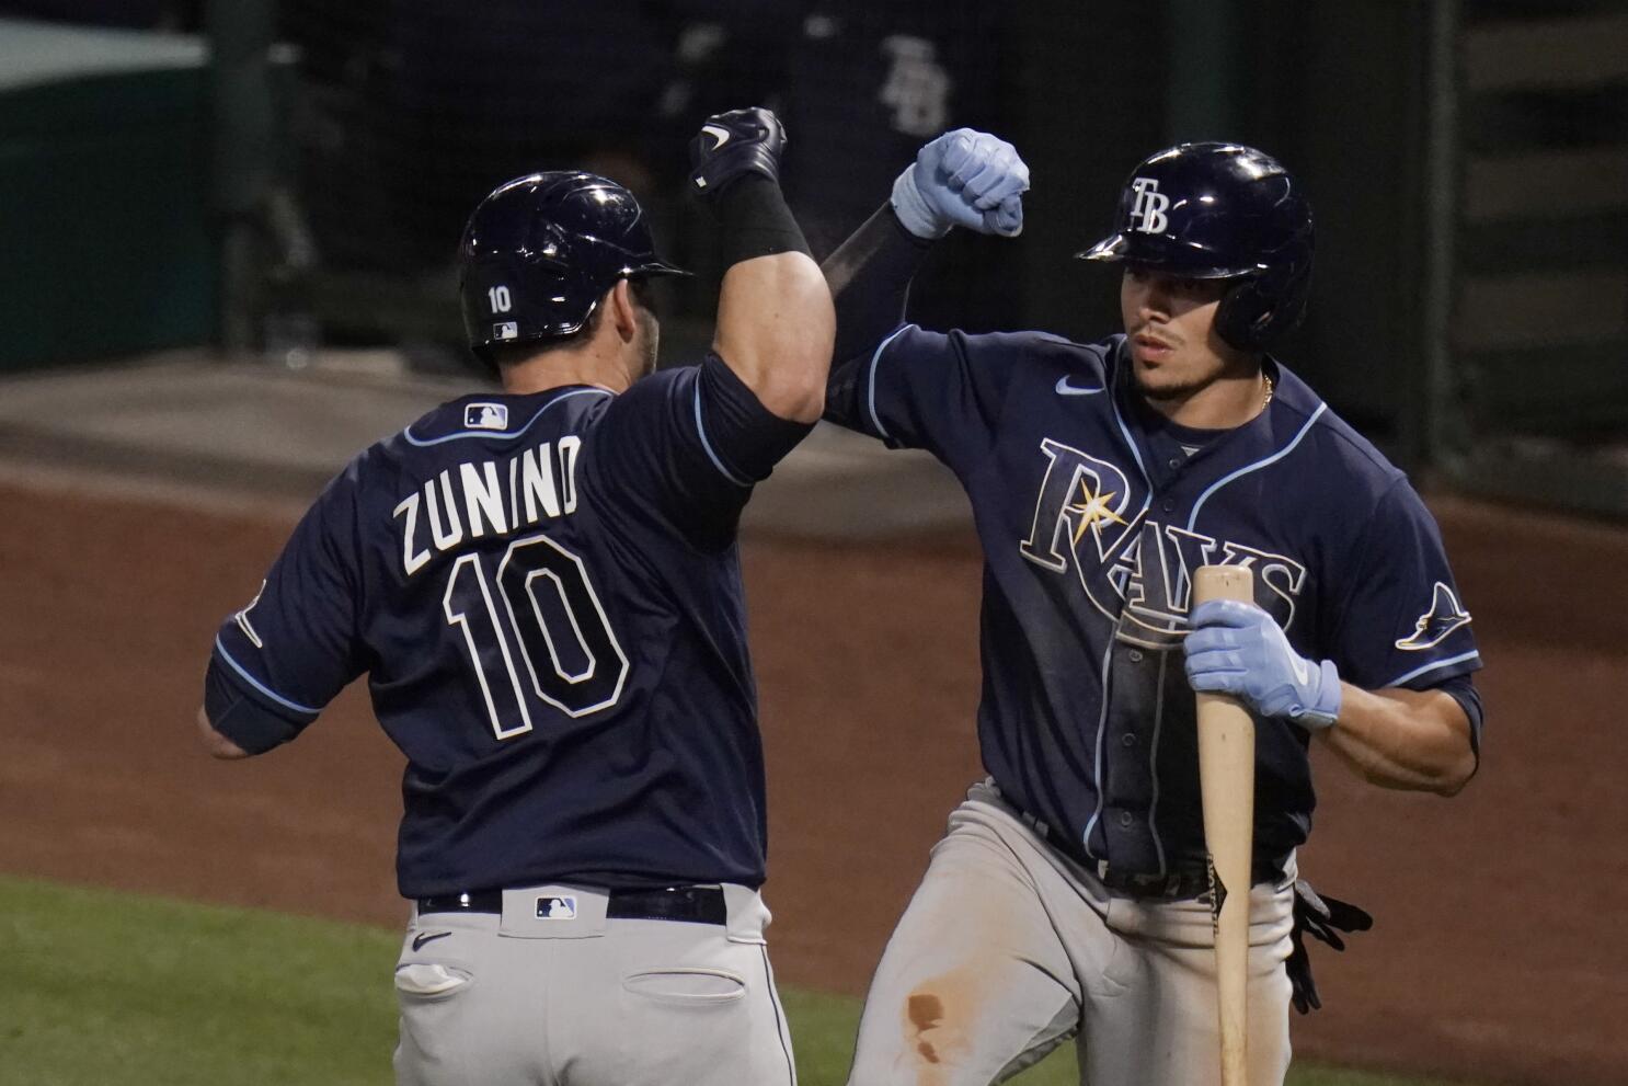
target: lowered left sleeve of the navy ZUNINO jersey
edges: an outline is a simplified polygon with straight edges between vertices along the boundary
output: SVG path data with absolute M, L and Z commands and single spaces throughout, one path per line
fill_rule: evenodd
M 327 485 L 259 594 L 215 637 L 205 707 L 251 754 L 293 739 L 363 671 L 355 471 Z M 230 712 L 228 690 L 257 712 Z

